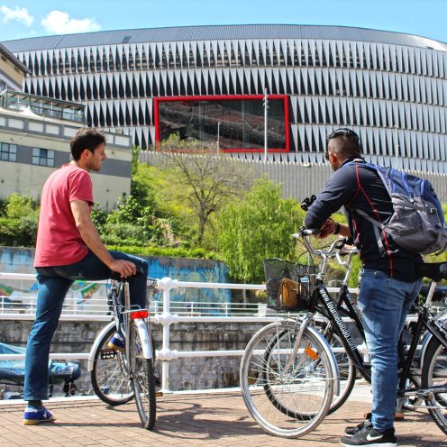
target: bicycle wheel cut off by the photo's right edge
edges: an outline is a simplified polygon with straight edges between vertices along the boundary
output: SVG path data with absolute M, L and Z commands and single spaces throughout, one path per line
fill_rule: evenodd
M 422 367 L 422 388 L 447 386 L 447 351 L 435 337 L 428 343 Z M 433 421 L 443 433 L 447 434 L 447 393 L 435 393 L 433 398 L 425 399 L 425 405 Z

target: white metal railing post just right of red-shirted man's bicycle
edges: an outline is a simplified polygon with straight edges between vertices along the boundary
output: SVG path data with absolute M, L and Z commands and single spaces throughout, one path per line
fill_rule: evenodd
M 161 360 L 161 392 L 170 393 L 169 389 L 169 361 L 178 359 L 178 351 L 169 348 L 170 325 L 178 322 L 178 315 L 170 313 L 170 289 L 178 287 L 178 280 L 161 278 L 158 287 L 163 291 L 163 313 L 155 315 L 156 323 L 163 325 L 163 344 L 161 350 L 157 350 L 157 359 Z

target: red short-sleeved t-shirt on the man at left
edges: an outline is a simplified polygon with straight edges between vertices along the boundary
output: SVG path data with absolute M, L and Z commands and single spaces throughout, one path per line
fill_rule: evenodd
M 74 264 L 87 255 L 88 247 L 71 213 L 74 200 L 93 205 L 92 180 L 86 170 L 63 165 L 50 175 L 41 193 L 34 267 Z

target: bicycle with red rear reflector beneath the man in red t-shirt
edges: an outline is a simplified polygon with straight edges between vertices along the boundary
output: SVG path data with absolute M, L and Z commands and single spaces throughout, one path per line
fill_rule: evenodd
M 137 268 L 137 275 L 142 269 Z M 156 419 L 156 386 L 160 386 L 154 369 L 155 348 L 148 308 L 130 304 L 129 281 L 133 277 L 111 278 L 109 306 L 114 319 L 97 335 L 88 358 L 92 386 L 96 395 L 111 406 L 123 405 L 135 398 L 142 426 L 151 430 Z M 147 280 L 147 303 L 156 292 L 157 280 Z M 123 297 L 123 301 L 122 298 Z M 107 346 L 114 333 L 120 332 L 125 350 Z

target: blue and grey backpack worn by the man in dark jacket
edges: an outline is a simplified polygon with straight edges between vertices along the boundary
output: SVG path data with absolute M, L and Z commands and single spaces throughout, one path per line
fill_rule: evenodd
M 356 161 L 348 164 L 351 163 Z M 394 212 L 384 223 L 362 210 L 353 210 L 373 224 L 380 252 L 385 253 L 380 230 L 387 232 L 397 245 L 414 253 L 440 254 L 447 248 L 442 206 L 428 180 L 372 163 L 362 162 L 361 166 L 377 171 L 393 204 Z

